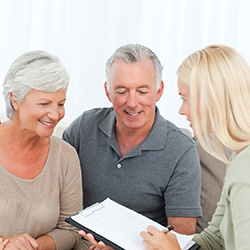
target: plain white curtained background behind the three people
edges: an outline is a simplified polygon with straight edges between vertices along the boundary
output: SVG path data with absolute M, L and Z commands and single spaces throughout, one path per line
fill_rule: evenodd
M 210 44 L 229 45 L 250 62 L 249 34 L 249 0 L 0 0 L 0 91 L 17 56 L 46 50 L 70 75 L 63 121 L 71 122 L 84 110 L 111 105 L 103 88 L 105 62 L 117 47 L 140 43 L 164 67 L 161 114 L 188 127 L 178 114 L 178 66 Z

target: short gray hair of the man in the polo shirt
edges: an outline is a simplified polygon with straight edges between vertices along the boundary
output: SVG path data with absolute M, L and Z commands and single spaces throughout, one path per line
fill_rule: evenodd
M 156 54 L 146 46 L 140 44 L 127 44 L 119 47 L 106 62 L 106 78 L 107 89 L 110 90 L 110 68 L 116 60 L 121 60 L 126 63 L 140 62 L 145 58 L 152 60 L 156 73 L 156 88 L 161 86 L 162 81 L 162 65 Z

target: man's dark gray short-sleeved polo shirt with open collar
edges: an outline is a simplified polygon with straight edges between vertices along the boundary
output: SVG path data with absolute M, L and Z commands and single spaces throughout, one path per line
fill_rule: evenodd
M 110 197 L 162 225 L 168 216 L 201 216 L 195 142 L 156 108 L 147 138 L 121 157 L 115 123 L 113 108 L 92 109 L 63 134 L 79 154 L 84 207 Z

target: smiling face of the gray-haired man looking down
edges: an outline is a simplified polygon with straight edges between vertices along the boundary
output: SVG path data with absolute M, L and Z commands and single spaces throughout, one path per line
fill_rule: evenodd
M 153 126 L 155 103 L 163 93 L 156 90 L 156 74 L 150 59 L 137 63 L 115 61 L 110 68 L 110 91 L 105 90 L 116 112 L 120 131 L 146 131 Z

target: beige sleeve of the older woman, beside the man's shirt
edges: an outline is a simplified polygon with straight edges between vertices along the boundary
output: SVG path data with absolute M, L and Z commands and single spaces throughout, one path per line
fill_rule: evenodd
M 68 158 L 68 159 L 65 159 Z M 60 250 L 72 249 L 81 236 L 78 230 L 65 222 L 65 219 L 82 210 L 82 185 L 80 163 L 76 151 L 65 152 L 64 161 L 67 164 L 64 171 L 63 184 L 60 193 L 60 216 L 55 229 L 48 233 Z

